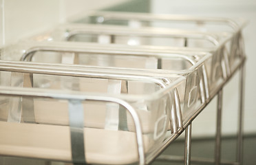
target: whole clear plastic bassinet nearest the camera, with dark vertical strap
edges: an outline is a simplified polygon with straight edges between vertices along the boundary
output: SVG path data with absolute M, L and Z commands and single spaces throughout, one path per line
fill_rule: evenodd
M 186 79 L 175 74 L 14 61 L 0 70 L 1 155 L 141 163 L 181 121 Z

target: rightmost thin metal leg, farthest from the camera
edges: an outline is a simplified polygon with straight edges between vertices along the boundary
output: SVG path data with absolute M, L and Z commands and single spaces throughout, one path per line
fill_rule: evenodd
M 237 162 L 242 164 L 243 158 L 243 125 L 244 125 L 244 72 L 245 68 L 242 65 L 240 69 L 240 93 L 239 93 L 239 120 L 237 134 Z

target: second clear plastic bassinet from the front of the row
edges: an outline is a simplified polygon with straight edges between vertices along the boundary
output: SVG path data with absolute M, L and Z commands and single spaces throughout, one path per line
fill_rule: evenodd
M 36 63 L 62 63 L 102 67 L 106 69 L 130 69 L 131 72 L 178 74 L 186 77 L 186 87 L 180 91 L 180 103 L 183 124 L 204 106 L 209 98 L 209 89 L 217 89 L 223 82 L 223 76 L 215 75 L 222 72 L 215 67 L 216 61 L 211 54 L 204 52 L 129 52 L 122 49 L 105 50 L 105 45 L 67 42 L 21 43 L 2 49 L 2 58 Z M 213 65 L 213 66 L 212 66 Z M 218 70 L 219 69 L 219 70 Z M 213 75 L 209 87 L 209 77 Z M 184 94 L 184 96 L 183 96 Z M 182 124 L 179 125 L 182 127 Z

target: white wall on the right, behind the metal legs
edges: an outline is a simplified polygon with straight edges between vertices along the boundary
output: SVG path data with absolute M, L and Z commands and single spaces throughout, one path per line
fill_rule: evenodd
M 246 96 L 244 131 L 256 133 L 256 74 L 255 74 L 255 47 L 256 47 L 256 1 L 250 0 L 151 0 L 151 11 L 155 13 L 189 14 L 213 17 L 243 17 L 250 21 L 244 29 L 246 46 Z M 231 80 L 224 88 L 224 111 L 222 130 L 225 134 L 237 131 L 237 104 L 238 104 L 239 75 Z M 215 132 L 215 107 L 217 99 L 193 122 L 193 135 L 213 135 Z

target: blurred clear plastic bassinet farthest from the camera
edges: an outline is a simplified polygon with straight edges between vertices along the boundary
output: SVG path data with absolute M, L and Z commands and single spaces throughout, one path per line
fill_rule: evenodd
M 228 49 L 229 67 L 231 72 L 237 67 L 237 60 L 242 61 L 244 41 L 242 29 L 247 21 L 242 18 L 196 17 L 188 15 L 149 14 L 136 12 L 92 12 L 80 14 L 72 19 L 73 23 L 92 23 L 105 25 L 122 25 L 129 28 L 156 27 L 195 30 L 200 32 L 231 32 L 232 39 Z M 228 48 L 228 47 L 227 47 Z

